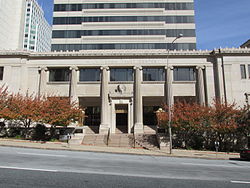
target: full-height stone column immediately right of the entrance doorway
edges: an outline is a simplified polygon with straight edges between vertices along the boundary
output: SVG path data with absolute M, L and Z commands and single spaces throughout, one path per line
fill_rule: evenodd
M 143 106 L 141 95 L 141 82 L 142 82 L 142 67 L 134 67 L 135 81 L 134 81 L 134 111 L 135 111 L 135 124 L 134 133 L 143 133 Z

